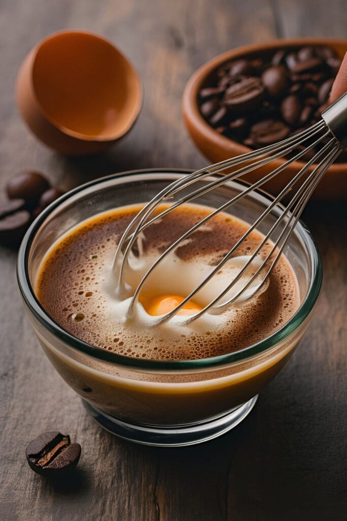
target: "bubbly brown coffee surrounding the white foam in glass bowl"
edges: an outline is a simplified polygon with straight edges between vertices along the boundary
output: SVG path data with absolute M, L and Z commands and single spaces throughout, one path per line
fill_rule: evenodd
M 210 330 L 195 326 L 194 331 L 180 329 L 170 336 L 165 331 L 125 326 L 110 313 L 112 303 L 104 286 L 115 247 L 138 209 L 121 208 L 93 217 L 61 238 L 46 255 L 37 277 L 36 295 L 46 312 L 74 336 L 125 356 L 204 358 L 263 340 L 284 326 L 297 310 L 298 283 L 282 256 L 266 291 L 234 305 L 220 322 L 213 322 Z M 206 208 L 194 205 L 170 213 L 145 231 L 144 254 L 163 251 L 207 213 Z M 176 254 L 183 261 L 197 263 L 202 255 L 208 256 L 210 264 L 216 264 L 246 230 L 245 222 L 220 214 Z M 262 239 L 260 232 L 253 232 L 235 256 L 250 255 Z

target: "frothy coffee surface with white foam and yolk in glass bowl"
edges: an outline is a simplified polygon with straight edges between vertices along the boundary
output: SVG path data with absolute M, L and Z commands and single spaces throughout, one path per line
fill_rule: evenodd
M 252 295 L 250 287 L 248 299 L 231 305 L 222 314 L 205 313 L 186 325 L 182 323 L 186 317 L 176 316 L 165 324 L 153 326 L 153 319 L 158 317 L 151 315 L 161 314 L 158 300 L 162 304 L 166 297 L 170 301 L 172 295 L 187 296 L 248 229 L 246 222 L 219 214 L 158 266 L 140 297 L 142 303 L 136 306 L 134 315 L 126 319 L 130 299 L 121 302 L 115 297 L 111 265 L 118 241 L 139 209 L 138 206 L 124 207 L 82 222 L 63 235 L 43 259 L 35 287 L 38 300 L 46 312 L 75 337 L 100 349 L 137 358 L 205 358 L 263 340 L 284 326 L 297 310 L 298 282 L 282 255 L 261 291 Z M 209 213 L 211 209 L 206 207 L 181 206 L 143 232 L 126 271 L 130 293 L 153 259 Z M 235 257 L 195 297 L 192 307 L 202 308 L 219 294 L 245 263 L 248 258 L 245 256 L 249 256 L 262 239 L 260 232 L 252 232 L 235 252 Z M 267 247 L 271 247 L 271 243 Z M 258 257 L 259 263 L 262 255 Z M 241 286 L 257 266 L 255 262 L 246 272 Z M 157 313 L 153 313 L 153 309 Z

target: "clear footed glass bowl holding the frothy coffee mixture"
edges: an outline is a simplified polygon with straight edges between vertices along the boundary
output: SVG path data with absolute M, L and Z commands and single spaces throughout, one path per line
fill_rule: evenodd
M 33 291 L 49 247 L 84 219 L 119 206 L 145 203 L 189 172 L 137 170 L 84 184 L 61 196 L 37 217 L 18 256 L 17 275 L 24 306 L 50 362 L 100 425 L 118 436 L 150 445 L 207 441 L 245 418 L 258 393 L 298 345 L 322 283 L 316 246 L 310 232 L 298 222 L 285 249 L 299 283 L 298 311 L 272 336 L 247 349 L 212 358 L 155 361 L 96 348 L 61 328 L 47 315 Z M 211 178 L 200 184 L 208 181 Z M 243 182 L 227 182 L 200 197 L 199 204 L 216 207 L 244 189 Z M 271 201 L 271 196 L 255 191 L 233 205 L 230 213 L 252 222 Z M 269 229 L 280 212 L 281 207 L 275 206 L 260 231 Z

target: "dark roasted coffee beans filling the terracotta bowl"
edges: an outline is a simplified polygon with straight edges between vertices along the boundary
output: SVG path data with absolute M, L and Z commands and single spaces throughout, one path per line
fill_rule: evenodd
M 335 51 L 326 46 L 280 49 L 273 55 L 229 61 L 201 88 L 201 114 L 227 138 L 250 148 L 271 145 L 320 119 L 340 64 Z

